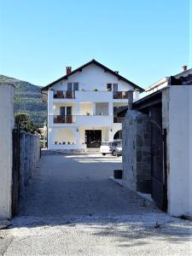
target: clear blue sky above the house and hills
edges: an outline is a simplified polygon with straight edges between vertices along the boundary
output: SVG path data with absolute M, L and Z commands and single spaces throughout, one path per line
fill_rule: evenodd
M 190 0 L 0 0 L 0 73 L 46 85 L 95 58 L 146 87 L 189 66 Z

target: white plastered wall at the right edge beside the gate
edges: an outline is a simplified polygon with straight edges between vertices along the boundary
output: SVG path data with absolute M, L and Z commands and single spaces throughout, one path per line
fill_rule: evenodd
M 192 87 L 172 85 L 163 91 L 163 99 L 168 212 L 192 216 Z

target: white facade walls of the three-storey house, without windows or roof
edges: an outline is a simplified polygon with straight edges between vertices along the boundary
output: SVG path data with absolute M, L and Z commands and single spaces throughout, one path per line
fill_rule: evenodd
M 54 91 L 48 91 L 48 148 L 86 148 L 84 131 L 93 129 L 102 130 L 102 142 L 113 141 L 114 134 L 122 129 L 122 124 L 113 123 L 113 107 L 125 106 L 128 100 L 113 99 L 113 91 L 107 90 L 107 84 L 118 84 L 118 89 L 122 91 L 133 90 L 133 87 L 96 65 L 85 67 L 82 72 L 55 84 L 54 90 L 67 90 L 67 83 L 70 82 L 79 83 L 79 90 L 75 91 L 73 99 L 54 98 Z M 138 91 L 134 95 L 137 98 Z M 60 115 L 62 106 L 72 106 L 72 123 L 54 123 L 54 115 Z M 68 135 L 69 130 L 73 136 Z M 62 144 L 68 141 L 72 144 Z

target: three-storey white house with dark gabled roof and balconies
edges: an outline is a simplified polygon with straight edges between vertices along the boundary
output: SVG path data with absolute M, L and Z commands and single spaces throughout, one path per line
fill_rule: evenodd
M 122 119 L 115 113 L 143 89 L 92 60 L 42 89 L 48 104 L 48 148 L 98 148 L 121 137 Z M 131 94 L 130 94 L 131 95 Z

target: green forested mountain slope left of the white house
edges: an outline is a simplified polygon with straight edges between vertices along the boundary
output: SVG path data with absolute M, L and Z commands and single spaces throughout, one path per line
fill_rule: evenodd
M 0 75 L 0 83 L 15 85 L 15 113 L 27 113 L 38 127 L 43 127 L 46 120 L 46 106 L 41 100 L 41 87 L 4 75 Z

